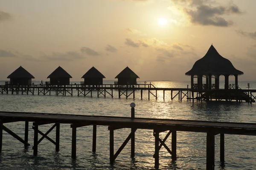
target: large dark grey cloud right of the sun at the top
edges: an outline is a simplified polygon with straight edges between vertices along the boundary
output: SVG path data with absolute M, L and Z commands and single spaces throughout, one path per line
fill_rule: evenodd
M 189 17 L 190 22 L 202 26 L 232 26 L 233 21 L 226 20 L 224 16 L 243 14 L 241 9 L 233 3 L 223 6 L 218 5 L 215 0 L 172 0 L 172 2 L 176 4 L 186 3 L 189 8 L 184 7 L 183 11 Z

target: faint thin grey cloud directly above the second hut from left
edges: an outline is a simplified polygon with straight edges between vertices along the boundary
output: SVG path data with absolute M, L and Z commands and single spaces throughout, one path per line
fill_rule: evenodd
M 49 60 L 64 60 L 64 61 L 71 61 L 74 59 L 82 59 L 84 56 L 79 54 L 76 51 L 68 51 L 66 53 L 58 53 L 53 52 L 51 55 L 43 55 L 43 57 L 49 59 Z

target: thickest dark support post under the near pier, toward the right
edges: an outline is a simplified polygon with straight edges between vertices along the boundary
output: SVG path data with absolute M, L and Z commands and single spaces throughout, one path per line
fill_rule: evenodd
M 214 133 L 208 132 L 206 138 L 206 170 L 214 170 L 215 157 L 215 136 Z

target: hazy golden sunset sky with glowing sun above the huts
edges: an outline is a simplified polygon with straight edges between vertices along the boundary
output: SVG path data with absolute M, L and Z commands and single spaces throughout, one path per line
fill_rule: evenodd
M 256 0 L 0 0 L 0 80 L 20 65 L 35 80 L 58 66 L 114 80 L 186 81 L 213 44 L 239 81 L 256 80 Z M 224 79 L 224 78 L 223 78 Z M 233 78 L 231 78 L 233 79 Z

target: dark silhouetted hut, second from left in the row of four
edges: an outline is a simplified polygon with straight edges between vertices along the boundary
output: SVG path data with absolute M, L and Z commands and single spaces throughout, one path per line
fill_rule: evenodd
M 55 71 L 53 71 L 47 79 L 50 78 L 50 85 L 69 85 L 70 84 L 70 74 L 67 73 L 61 66 L 58 66 Z

